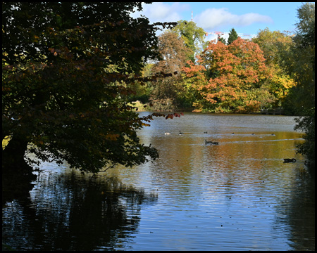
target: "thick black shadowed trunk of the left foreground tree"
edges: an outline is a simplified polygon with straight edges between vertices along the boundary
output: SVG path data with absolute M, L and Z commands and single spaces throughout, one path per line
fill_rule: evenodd
M 28 197 L 32 190 L 32 181 L 37 176 L 32 174 L 30 167 L 24 160 L 27 150 L 25 138 L 13 136 L 6 148 L 2 150 L 2 203 L 14 198 Z

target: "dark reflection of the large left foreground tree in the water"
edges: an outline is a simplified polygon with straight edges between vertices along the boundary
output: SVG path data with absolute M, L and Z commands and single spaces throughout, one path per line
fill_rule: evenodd
M 142 205 L 158 199 L 116 179 L 51 176 L 29 199 L 3 208 L 3 243 L 20 250 L 120 249 L 136 233 Z

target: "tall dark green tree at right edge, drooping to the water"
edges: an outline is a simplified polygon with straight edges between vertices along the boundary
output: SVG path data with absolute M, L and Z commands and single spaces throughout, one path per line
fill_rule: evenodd
M 315 163 L 315 4 L 306 3 L 297 10 L 299 22 L 294 46 L 284 61 L 286 70 L 294 75 L 297 86 L 292 88 L 288 100 L 296 112 L 304 117 L 297 119 L 295 129 L 304 131 L 304 144 L 298 152 Z

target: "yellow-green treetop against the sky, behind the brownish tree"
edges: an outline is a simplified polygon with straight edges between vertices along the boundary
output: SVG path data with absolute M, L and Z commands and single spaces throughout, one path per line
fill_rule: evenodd
M 189 60 L 192 60 L 194 63 L 195 54 L 198 55 L 206 47 L 206 43 L 204 42 L 206 32 L 204 29 L 197 27 L 193 21 L 180 20 L 172 31 L 178 33 L 187 48 L 191 50 Z

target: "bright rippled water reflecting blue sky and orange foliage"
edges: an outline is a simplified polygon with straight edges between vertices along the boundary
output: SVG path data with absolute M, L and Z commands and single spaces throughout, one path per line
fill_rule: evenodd
M 131 171 L 108 171 L 159 193 L 158 203 L 142 211 L 133 249 L 314 249 L 314 223 L 299 226 L 287 215 L 314 215 L 314 194 L 307 192 L 313 182 L 296 154 L 302 138 L 293 118 L 234 117 L 158 119 L 142 131 L 142 140 L 158 147 L 161 158 Z M 179 136 L 180 130 L 185 134 Z M 206 138 L 219 145 L 205 145 Z M 285 157 L 297 163 L 283 164 Z M 297 181 L 306 182 L 309 207 L 302 205 Z

